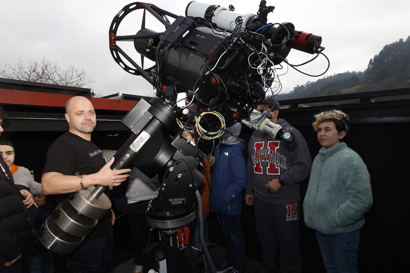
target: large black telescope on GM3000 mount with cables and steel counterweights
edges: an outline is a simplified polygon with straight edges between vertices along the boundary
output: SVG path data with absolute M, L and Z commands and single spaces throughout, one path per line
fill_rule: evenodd
M 136 34 L 118 36 L 123 19 L 139 9 L 144 11 L 141 28 Z M 146 215 L 147 223 L 160 230 L 166 250 L 166 255 L 156 256 L 159 272 L 166 272 L 165 268 L 168 272 L 183 272 L 178 262 L 178 250 L 184 248 L 179 244 L 183 234 L 176 230 L 194 220 L 195 196 L 201 203 L 196 188 L 203 174 L 196 167 L 212 153 L 199 149 L 201 142 L 213 144 L 237 122 L 283 142 L 294 140 L 292 131 L 268 120 L 267 113 L 257 111 L 257 106 L 266 92 L 273 95 L 272 84 L 278 80 L 275 66 L 286 62 L 291 49 L 319 55 L 324 47 L 321 36 L 296 30 L 292 23 L 268 23 L 267 16 L 273 10 L 264 0 L 256 14 L 236 13 L 232 5 L 191 1 L 185 15 L 178 16 L 153 4 L 133 2 L 112 20 L 109 50 L 114 61 L 155 89 L 153 99 L 140 99 L 121 121 L 133 134 L 114 155 L 112 168 L 137 167 L 149 178 L 158 174 L 158 197 L 150 201 Z M 156 32 L 146 27 L 146 12 L 166 30 Z M 168 17 L 174 19 L 172 23 Z M 133 43 L 141 55 L 141 65 L 121 49 L 119 42 Z M 145 58 L 155 64 L 144 68 Z M 183 131 L 195 133 L 196 144 L 182 138 Z M 47 219 L 41 227 L 40 241 L 56 252 L 73 251 L 81 243 L 78 238 L 95 226 L 93 219 L 109 209 L 104 190 L 102 186 L 93 187 L 60 204 L 57 209 L 64 213 L 53 213 L 55 217 Z M 90 220 L 72 217 L 75 212 L 71 209 Z M 201 222 L 202 210 L 198 213 Z M 214 271 L 203 238 L 201 242 Z

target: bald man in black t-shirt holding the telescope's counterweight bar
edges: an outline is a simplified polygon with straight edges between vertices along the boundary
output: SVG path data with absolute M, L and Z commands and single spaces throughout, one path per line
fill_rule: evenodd
M 110 169 L 114 158 L 106 163 L 101 150 L 91 142 L 96 126 L 96 113 L 85 97 L 72 97 L 66 102 L 69 130 L 55 140 L 47 151 L 47 161 L 41 177 L 44 194 L 59 194 L 57 201 L 70 192 L 85 190 L 93 185 L 118 186 L 130 169 Z M 78 173 L 81 177 L 76 176 Z M 84 176 L 83 176 L 84 175 Z M 112 224 L 114 212 L 98 220 L 97 226 L 84 243 L 67 260 L 71 272 L 107 272 L 112 266 Z

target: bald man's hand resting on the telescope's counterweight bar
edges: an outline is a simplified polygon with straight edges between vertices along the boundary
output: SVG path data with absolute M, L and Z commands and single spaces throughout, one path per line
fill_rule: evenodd
M 91 178 L 94 180 L 91 185 L 102 185 L 102 186 L 118 186 L 121 184 L 121 182 L 125 181 L 127 177 L 129 176 L 128 173 L 131 171 L 131 169 L 119 169 L 116 171 L 113 171 L 111 169 L 111 165 L 114 163 L 114 158 L 111 158 L 107 162 L 107 164 L 102 167 L 98 173 L 96 174 L 90 174 L 85 177 Z M 84 181 L 84 178 L 83 178 Z

